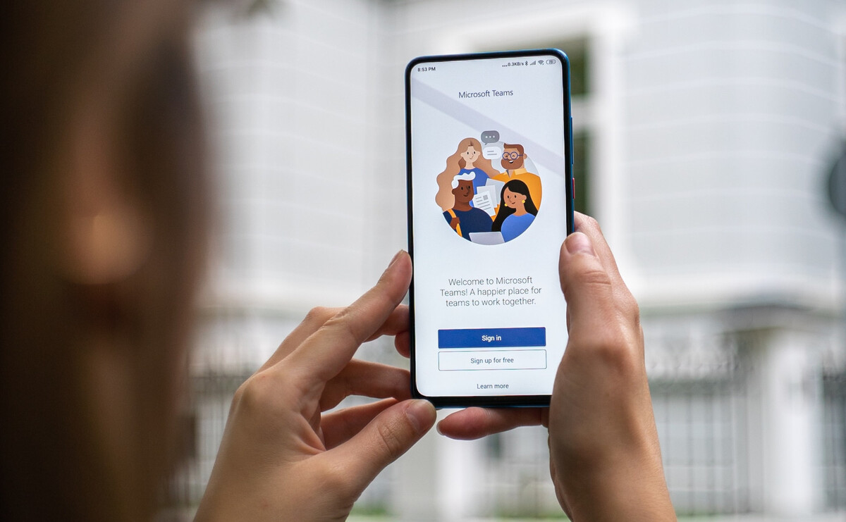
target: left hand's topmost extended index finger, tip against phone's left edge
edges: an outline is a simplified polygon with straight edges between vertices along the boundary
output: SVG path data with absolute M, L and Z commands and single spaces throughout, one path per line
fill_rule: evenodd
M 338 375 L 355 351 L 385 324 L 411 282 L 409 254 L 398 253 L 376 285 L 343 312 L 329 319 L 288 357 L 293 378 L 325 383 Z

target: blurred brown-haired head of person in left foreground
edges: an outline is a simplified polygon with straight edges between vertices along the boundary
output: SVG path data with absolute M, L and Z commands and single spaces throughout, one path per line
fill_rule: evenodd
M 206 182 L 189 2 L 4 6 L 0 519 L 148 519 Z

